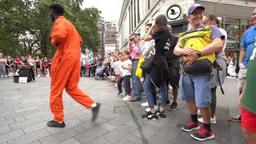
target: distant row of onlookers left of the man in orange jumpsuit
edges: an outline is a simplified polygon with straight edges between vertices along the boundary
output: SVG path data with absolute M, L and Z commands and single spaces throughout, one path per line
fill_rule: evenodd
M 50 77 L 51 59 L 40 58 L 39 56 L 32 57 L 31 55 L 16 58 L 0 55 L 0 77 L 10 77 L 17 74 L 21 65 L 30 65 L 37 77 Z

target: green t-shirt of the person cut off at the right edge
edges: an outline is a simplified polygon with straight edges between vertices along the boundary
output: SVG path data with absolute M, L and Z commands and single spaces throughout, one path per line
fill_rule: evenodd
M 255 38 L 256 41 L 256 38 Z M 256 114 L 256 42 L 250 56 L 246 74 L 246 90 L 242 95 L 241 104 L 246 110 Z

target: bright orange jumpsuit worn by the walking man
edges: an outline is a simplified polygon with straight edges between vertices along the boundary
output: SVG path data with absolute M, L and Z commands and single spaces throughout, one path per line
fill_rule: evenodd
M 58 46 L 51 66 L 50 110 L 54 114 L 55 122 L 63 122 L 62 92 L 64 87 L 76 102 L 86 108 L 90 108 L 94 101 L 78 88 L 80 46 L 82 45 L 82 38 L 78 31 L 71 22 L 60 16 L 54 22 L 50 37 L 52 44 Z

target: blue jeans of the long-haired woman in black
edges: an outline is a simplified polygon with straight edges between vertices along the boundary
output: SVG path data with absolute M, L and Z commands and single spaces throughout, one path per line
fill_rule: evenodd
M 155 89 L 156 87 L 151 82 L 151 76 L 154 74 L 154 70 L 152 69 L 150 74 L 146 74 L 146 79 L 144 81 L 144 91 L 146 94 L 147 102 L 149 103 L 150 109 L 154 109 L 154 97 L 153 94 L 156 94 Z M 160 95 L 161 95 L 161 104 L 160 106 L 166 106 L 166 82 L 162 82 L 162 86 L 160 86 Z

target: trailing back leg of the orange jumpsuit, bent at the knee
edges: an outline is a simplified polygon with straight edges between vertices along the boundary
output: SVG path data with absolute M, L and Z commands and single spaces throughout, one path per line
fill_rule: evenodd
M 66 82 L 66 92 L 70 94 L 72 98 L 82 106 L 90 108 L 94 101 L 89 97 L 89 95 L 84 94 L 82 90 L 78 88 L 78 81 L 80 78 L 80 61 L 75 63 L 74 69 Z

